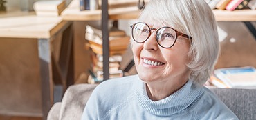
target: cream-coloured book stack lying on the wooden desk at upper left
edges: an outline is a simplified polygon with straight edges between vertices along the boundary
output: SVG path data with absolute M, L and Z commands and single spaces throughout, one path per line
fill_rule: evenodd
M 33 4 L 33 8 L 37 16 L 59 16 L 66 8 L 66 1 L 37 1 Z

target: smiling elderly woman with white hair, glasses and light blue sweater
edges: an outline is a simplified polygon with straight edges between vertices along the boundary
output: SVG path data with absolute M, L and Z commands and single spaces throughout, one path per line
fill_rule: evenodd
M 204 0 L 151 0 L 131 35 L 138 75 L 100 83 L 82 119 L 237 119 L 203 87 L 219 54 Z

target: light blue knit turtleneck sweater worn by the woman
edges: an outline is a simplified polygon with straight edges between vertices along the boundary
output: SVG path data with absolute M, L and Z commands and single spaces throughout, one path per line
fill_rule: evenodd
M 192 81 L 165 99 L 147 97 L 138 75 L 100 83 L 86 103 L 82 120 L 143 119 L 237 119 L 208 88 L 196 88 Z

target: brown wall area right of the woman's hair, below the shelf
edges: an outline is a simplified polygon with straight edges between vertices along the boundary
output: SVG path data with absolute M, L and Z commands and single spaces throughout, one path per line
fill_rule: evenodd
M 256 28 L 256 22 L 252 22 Z M 256 39 L 242 22 L 218 22 L 227 36 L 221 39 L 221 54 L 216 68 L 254 66 Z M 256 34 L 256 33 L 255 33 Z

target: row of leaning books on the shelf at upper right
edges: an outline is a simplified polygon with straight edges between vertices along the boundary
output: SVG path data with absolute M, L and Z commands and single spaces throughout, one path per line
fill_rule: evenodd
M 255 9 L 256 0 L 205 0 L 210 8 L 219 10 Z

